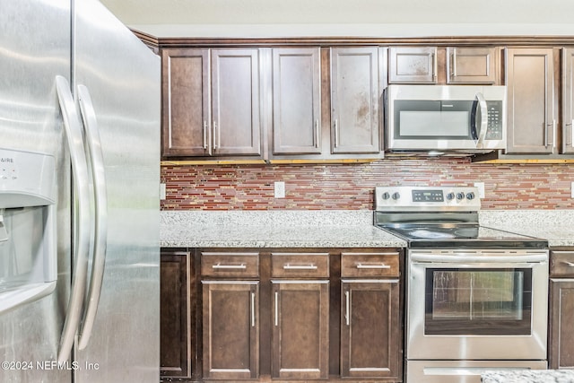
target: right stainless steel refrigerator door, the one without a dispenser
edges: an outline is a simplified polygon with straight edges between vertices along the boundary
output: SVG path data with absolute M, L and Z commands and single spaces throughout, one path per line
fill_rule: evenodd
M 84 126 L 100 137 L 107 222 L 91 259 L 91 293 L 78 332 L 76 383 L 156 383 L 160 366 L 160 57 L 96 0 L 75 1 L 72 90 Z M 86 131 L 86 139 L 90 134 Z M 88 147 L 89 145 L 87 145 Z M 100 188 L 100 193 L 99 189 Z M 107 200 L 107 201 L 106 201 Z M 107 217 L 102 217 L 106 215 Z M 98 224 L 96 222 L 96 224 Z M 99 243 L 99 239 L 93 239 Z M 103 267 L 102 267 L 103 266 Z M 97 275 L 103 270 L 103 279 Z M 99 285 L 101 294 L 98 295 Z M 95 305 L 98 303 L 97 309 Z M 92 306 L 90 306 L 92 304 Z M 93 317 L 95 314 L 95 317 Z

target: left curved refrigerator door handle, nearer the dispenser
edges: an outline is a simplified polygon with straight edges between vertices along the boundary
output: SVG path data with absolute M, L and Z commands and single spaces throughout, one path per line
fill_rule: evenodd
M 74 104 L 74 97 L 70 91 L 70 84 L 62 77 L 56 77 L 57 98 L 62 109 L 65 136 L 72 161 L 74 175 L 74 193 L 77 210 L 74 224 L 74 257 L 72 288 L 68 301 L 67 314 L 60 339 L 60 349 L 57 361 L 64 363 L 70 357 L 74 346 L 74 337 L 82 317 L 85 285 L 88 274 L 88 254 L 90 253 L 90 182 L 88 165 L 86 164 L 83 147 L 82 124 Z

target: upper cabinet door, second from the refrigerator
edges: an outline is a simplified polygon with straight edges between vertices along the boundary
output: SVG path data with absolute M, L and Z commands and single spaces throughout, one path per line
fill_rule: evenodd
M 213 49 L 213 154 L 261 154 L 258 49 Z

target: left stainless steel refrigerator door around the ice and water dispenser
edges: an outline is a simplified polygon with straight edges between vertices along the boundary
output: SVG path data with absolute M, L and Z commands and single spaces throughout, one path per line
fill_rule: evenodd
M 72 381 L 73 367 L 55 364 L 69 295 L 71 236 L 69 156 L 55 78 L 70 78 L 70 8 L 70 0 L 15 1 L 4 2 L 0 13 L 1 145 L 51 155 L 58 170 L 57 290 L 0 315 L 3 383 Z

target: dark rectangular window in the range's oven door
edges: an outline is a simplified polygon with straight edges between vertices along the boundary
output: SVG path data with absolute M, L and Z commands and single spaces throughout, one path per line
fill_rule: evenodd
M 532 269 L 427 268 L 425 335 L 529 335 Z

